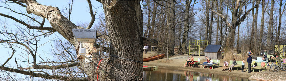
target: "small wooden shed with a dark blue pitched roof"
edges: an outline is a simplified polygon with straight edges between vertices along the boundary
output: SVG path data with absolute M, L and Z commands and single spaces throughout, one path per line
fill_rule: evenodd
M 206 49 L 204 49 L 204 56 L 208 56 L 211 59 L 222 59 L 222 54 L 219 49 L 221 45 L 208 45 Z

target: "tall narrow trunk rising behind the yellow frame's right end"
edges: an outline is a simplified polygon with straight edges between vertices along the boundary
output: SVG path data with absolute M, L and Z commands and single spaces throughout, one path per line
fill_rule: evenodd
M 209 29 L 209 16 L 210 16 L 210 8 L 209 8 L 209 1 L 205 1 L 206 2 L 206 31 L 205 31 L 205 40 L 208 40 L 208 29 Z

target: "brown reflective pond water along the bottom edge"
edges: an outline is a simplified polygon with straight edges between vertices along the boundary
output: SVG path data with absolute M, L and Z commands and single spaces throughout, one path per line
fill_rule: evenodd
M 234 76 L 215 75 L 191 71 L 158 69 L 157 71 L 143 71 L 143 80 L 248 80 Z

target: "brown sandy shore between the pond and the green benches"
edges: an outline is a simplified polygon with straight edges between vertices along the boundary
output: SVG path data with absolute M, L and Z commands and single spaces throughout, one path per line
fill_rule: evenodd
M 152 54 L 148 52 L 148 54 L 143 53 L 143 57 L 146 58 L 147 56 L 156 56 L 157 54 Z M 255 70 L 255 72 L 247 73 L 246 68 L 248 68 L 247 63 L 245 64 L 244 68 L 244 73 L 241 72 L 241 68 L 238 68 L 238 71 L 236 71 L 236 68 L 232 68 L 233 71 L 228 72 L 228 71 L 222 71 L 222 66 L 223 66 L 223 61 L 220 61 L 219 67 L 214 66 L 213 69 L 204 69 L 203 67 L 200 68 L 193 68 L 193 67 L 183 67 L 184 63 L 186 62 L 187 58 L 189 55 L 175 55 L 175 56 L 170 56 L 169 61 L 166 61 L 166 56 L 163 59 L 158 59 L 150 62 L 143 62 L 143 65 L 147 66 L 158 66 L 159 69 L 177 69 L 177 70 L 185 70 L 185 71 L 195 71 L 195 72 L 200 72 L 200 73 L 212 73 L 212 74 L 217 74 L 217 75 L 228 75 L 228 76 L 236 76 L 236 77 L 241 77 L 241 78 L 249 78 L 255 73 L 258 73 L 258 70 Z M 200 64 L 205 62 L 204 56 L 194 56 L 194 58 L 201 58 Z M 228 61 L 229 62 L 229 61 Z M 230 66 L 231 64 L 229 64 Z M 229 67 L 228 67 L 229 68 Z M 269 67 L 266 68 L 267 71 Z M 252 70 L 252 69 L 251 69 Z

